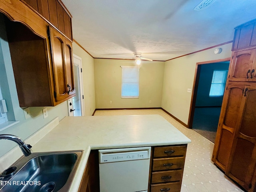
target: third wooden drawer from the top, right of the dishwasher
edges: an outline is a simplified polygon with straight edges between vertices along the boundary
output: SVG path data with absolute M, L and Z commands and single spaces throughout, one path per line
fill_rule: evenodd
M 152 173 L 152 184 L 181 181 L 183 170 L 158 171 Z

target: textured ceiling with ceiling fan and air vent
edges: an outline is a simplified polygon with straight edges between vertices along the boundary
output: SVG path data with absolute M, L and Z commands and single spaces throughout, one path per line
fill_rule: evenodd
M 94 58 L 166 61 L 233 40 L 234 27 L 256 19 L 256 0 L 62 0 L 73 38 Z

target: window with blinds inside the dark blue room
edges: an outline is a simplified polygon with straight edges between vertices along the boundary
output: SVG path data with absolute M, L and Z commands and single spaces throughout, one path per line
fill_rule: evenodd
M 212 74 L 212 84 L 210 97 L 222 97 L 225 89 L 228 70 L 214 70 Z

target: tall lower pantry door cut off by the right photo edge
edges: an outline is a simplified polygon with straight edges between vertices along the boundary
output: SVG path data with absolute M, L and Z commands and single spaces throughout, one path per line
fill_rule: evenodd
M 238 128 L 232 145 L 227 175 L 246 190 L 252 189 L 256 167 L 256 86 L 245 86 Z M 255 185 L 255 183 L 254 183 Z

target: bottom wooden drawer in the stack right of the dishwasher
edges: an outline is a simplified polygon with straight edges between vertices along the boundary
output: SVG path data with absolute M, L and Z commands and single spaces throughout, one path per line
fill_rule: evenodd
M 180 192 L 180 182 L 152 184 L 151 192 Z

